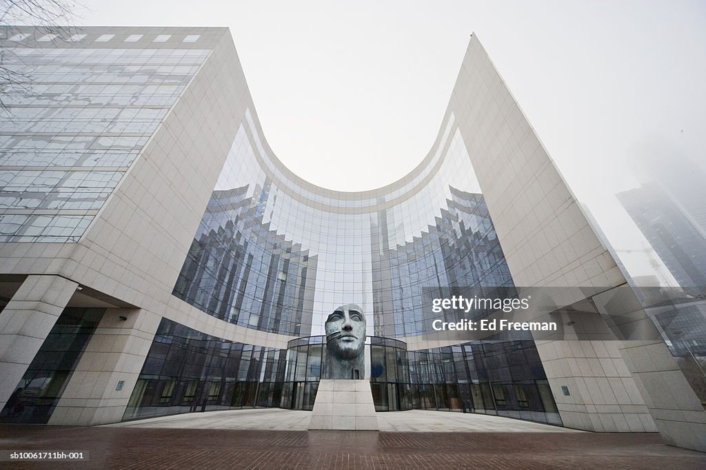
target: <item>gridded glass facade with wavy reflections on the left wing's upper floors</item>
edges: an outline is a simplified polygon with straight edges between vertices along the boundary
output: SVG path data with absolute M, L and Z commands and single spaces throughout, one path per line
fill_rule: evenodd
M 208 54 L 6 48 L 0 241 L 78 241 Z

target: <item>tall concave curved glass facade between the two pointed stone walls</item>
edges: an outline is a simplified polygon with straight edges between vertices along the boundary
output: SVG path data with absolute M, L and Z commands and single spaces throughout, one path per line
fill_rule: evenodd
M 175 296 L 297 336 L 322 335 L 333 308 L 354 302 L 368 335 L 406 337 L 431 330 L 424 288 L 513 285 L 453 114 L 417 169 L 361 193 L 299 179 L 255 119 L 247 110 Z

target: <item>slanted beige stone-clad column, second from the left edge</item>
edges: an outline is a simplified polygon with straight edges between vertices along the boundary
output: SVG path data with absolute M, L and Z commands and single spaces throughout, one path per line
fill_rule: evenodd
M 160 319 L 139 308 L 107 309 L 49 424 L 95 426 L 121 421 Z

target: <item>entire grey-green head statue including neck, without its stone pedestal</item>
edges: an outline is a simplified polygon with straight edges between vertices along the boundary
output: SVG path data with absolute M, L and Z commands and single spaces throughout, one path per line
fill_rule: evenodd
M 365 315 L 355 303 L 333 311 L 325 323 L 328 349 L 325 379 L 362 379 L 365 375 Z

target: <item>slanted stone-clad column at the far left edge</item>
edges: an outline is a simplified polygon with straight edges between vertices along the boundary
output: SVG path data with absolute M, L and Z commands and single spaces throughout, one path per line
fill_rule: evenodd
M 0 313 L 0 409 L 27 371 L 78 283 L 30 275 Z

